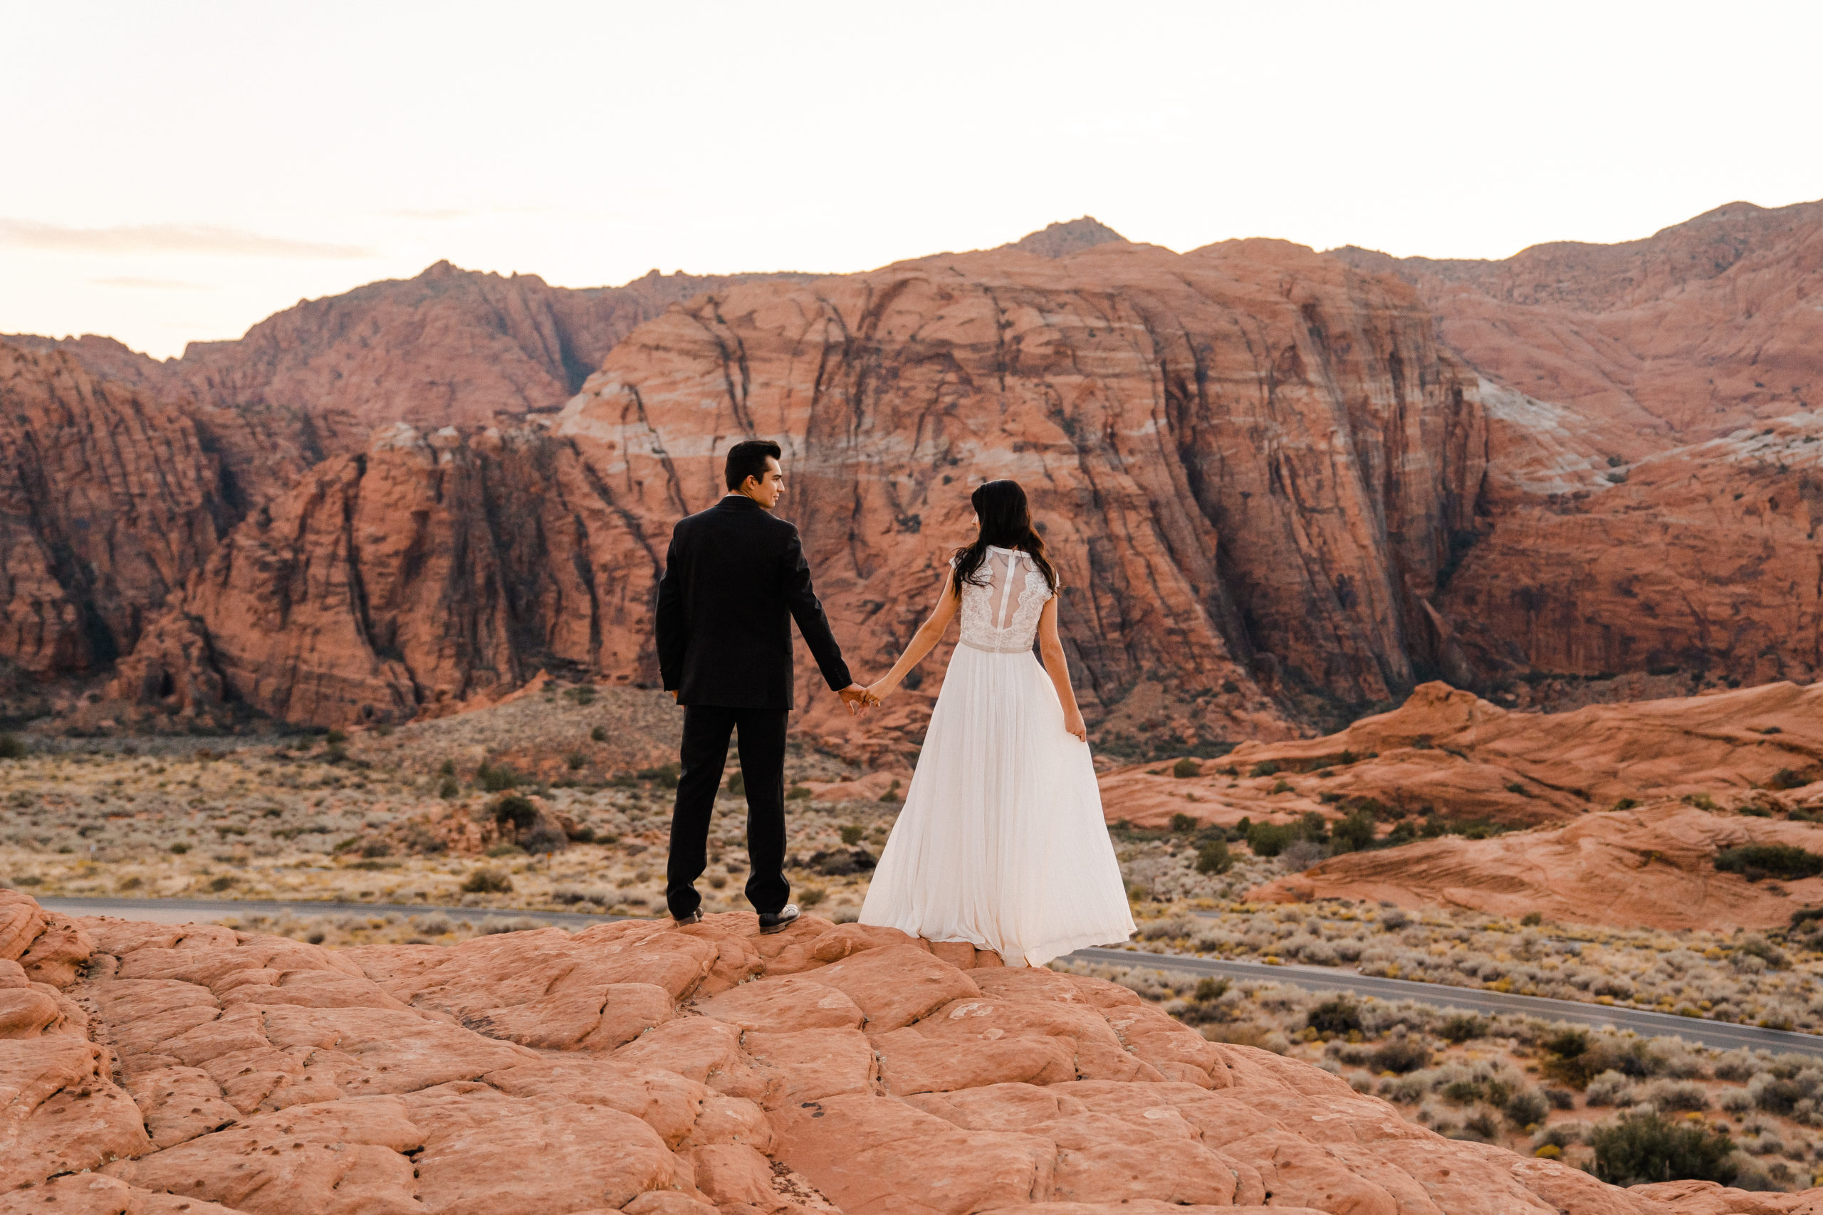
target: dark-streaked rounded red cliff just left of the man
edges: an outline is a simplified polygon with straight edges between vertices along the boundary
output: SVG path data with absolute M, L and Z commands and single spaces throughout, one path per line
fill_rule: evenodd
M 660 559 L 638 526 L 541 432 L 399 424 L 241 525 L 115 690 L 346 725 L 492 703 L 552 663 L 636 672 Z

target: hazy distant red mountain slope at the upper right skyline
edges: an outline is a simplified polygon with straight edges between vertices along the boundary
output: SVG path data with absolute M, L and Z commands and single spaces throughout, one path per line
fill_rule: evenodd
M 1606 423 L 1615 454 L 1823 406 L 1823 202 L 1730 202 L 1644 240 L 1500 262 L 1333 257 L 1416 284 L 1484 375 Z M 1630 435 L 1630 441 L 1628 441 Z

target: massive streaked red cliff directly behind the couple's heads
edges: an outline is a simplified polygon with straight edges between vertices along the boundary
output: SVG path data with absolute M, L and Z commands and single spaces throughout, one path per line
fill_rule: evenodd
M 1214 736 L 1274 729 L 1254 676 L 1358 703 L 1449 665 L 1427 599 L 1484 448 L 1409 295 L 1269 240 L 731 288 L 616 346 L 558 432 L 651 536 L 718 497 L 733 437 L 780 437 L 862 670 L 928 610 L 970 486 L 1017 477 L 1090 707 L 1163 685 Z

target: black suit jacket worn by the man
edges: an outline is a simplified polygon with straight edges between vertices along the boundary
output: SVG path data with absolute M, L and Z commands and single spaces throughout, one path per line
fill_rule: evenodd
M 740 494 L 678 521 L 658 583 L 658 670 L 680 705 L 793 709 L 793 618 L 829 687 L 853 683 L 795 526 Z

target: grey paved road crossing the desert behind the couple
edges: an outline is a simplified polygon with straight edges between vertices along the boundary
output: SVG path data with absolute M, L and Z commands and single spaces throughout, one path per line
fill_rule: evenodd
M 452 920 L 470 920 L 476 924 L 485 924 L 489 920 L 538 920 L 540 924 L 558 924 L 563 927 L 587 927 L 591 924 L 622 918 L 609 914 L 585 914 L 578 911 L 501 911 L 496 907 L 425 907 L 423 904 L 237 902 L 210 898 L 40 898 L 38 902 L 51 911 L 62 911 L 64 914 L 124 916 L 131 920 L 153 920 L 157 924 L 193 924 L 248 914 L 281 916 L 284 913 L 301 916 L 386 913 L 421 916 L 441 913 Z M 1701 1042 L 1703 1046 L 1714 1046 L 1719 1049 L 1752 1047 L 1761 1051 L 1796 1051 L 1823 1058 L 1823 1036 L 1808 1033 L 1759 1029 L 1757 1026 L 1732 1026 L 1717 1020 L 1672 1016 L 1670 1013 L 1648 1013 L 1644 1009 L 1606 1007 L 1601 1004 L 1577 1004 L 1573 1000 L 1515 996 L 1475 987 L 1418 984 L 1407 978 L 1373 978 L 1322 965 L 1221 962 L 1218 958 L 1141 953 L 1136 949 L 1077 949 L 1070 955 L 1070 958 L 1076 962 L 1154 967 L 1183 975 L 1256 978 L 1263 982 L 1287 984 L 1291 987 L 1303 987 L 1307 991 L 1349 991 L 1362 996 L 1376 996 L 1380 1000 L 1416 1000 L 1420 1004 L 1453 1007 L 1466 1013 L 1522 1013 L 1540 1016 L 1544 1020 L 1571 1022 L 1577 1026 L 1613 1026 L 1615 1029 L 1632 1029 L 1643 1036 L 1677 1035 L 1686 1042 Z

